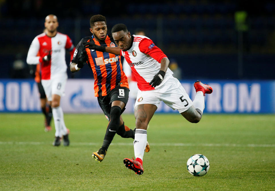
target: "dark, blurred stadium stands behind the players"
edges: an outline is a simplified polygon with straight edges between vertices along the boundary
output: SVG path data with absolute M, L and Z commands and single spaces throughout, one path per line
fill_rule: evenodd
M 49 14 L 58 31 L 76 45 L 90 35 L 89 19 L 104 15 L 109 31 L 124 23 L 131 34 L 145 31 L 169 59 L 176 60 L 182 79 L 275 79 L 274 1 L 0 1 L 0 78 L 32 78 L 26 57 Z M 131 3 L 132 2 L 132 3 Z M 244 30 L 235 13 L 245 11 Z M 14 75 L 14 61 L 24 62 Z M 66 54 L 67 63 L 70 62 Z M 69 78 L 93 78 L 85 66 Z

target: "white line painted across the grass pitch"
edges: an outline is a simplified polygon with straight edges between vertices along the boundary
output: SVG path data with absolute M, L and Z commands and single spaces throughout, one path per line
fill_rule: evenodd
M 0 141 L 0 145 L 48 145 L 50 142 L 12 142 L 12 141 Z M 190 146 L 203 146 L 203 147 L 275 147 L 274 144 L 215 144 L 215 143 L 149 143 L 150 146 L 172 146 L 172 147 L 190 147 Z M 71 143 L 71 145 L 101 145 L 101 143 Z M 114 146 L 133 146 L 133 143 L 111 143 Z

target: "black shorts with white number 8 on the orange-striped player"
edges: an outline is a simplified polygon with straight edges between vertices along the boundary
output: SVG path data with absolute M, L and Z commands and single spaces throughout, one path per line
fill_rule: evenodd
M 99 106 L 101 107 L 106 118 L 110 119 L 111 105 L 113 101 L 122 101 L 125 106 L 129 98 L 129 89 L 125 87 L 116 86 L 113 90 L 107 93 L 105 96 L 97 97 Z M 121 110 L 121 113 L 125 110 L 125 107 Z

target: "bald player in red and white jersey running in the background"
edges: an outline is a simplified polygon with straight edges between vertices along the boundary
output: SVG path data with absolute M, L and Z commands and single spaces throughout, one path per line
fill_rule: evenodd
M 70 37 L 57 32 L 58 21 L 55 15 L 48 15 L 44 25 L 47 31 L 36 36 L 32 41 L 27 63 L 41 65 L 41 82 L 52 106 L 56 130 L 53 145 L 59 146 L 63 137 L 63 145 L 69 146 L 69 131 L 64 123 L 60 98 L 64 94 L 68 79 L 65 49 L 70 51 L 72 59 L 75 48 Z M 40 56 L 37 56 L 38 52 Z

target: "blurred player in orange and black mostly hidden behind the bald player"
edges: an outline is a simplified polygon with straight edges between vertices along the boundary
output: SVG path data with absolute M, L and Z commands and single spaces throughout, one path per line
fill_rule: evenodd
M 46 33 L 47 29 L 45 28 L 43 30 L 44 33 Z M 40 53 L 38 52 L 37 56 L 40 56 Z M 30 74 L 34 76 L 34 80 L 37 83 L 38 86 L 38 91 L 40 94 L 40 104 L 41 104 L 41 110 L 42 113 L 45 116 L 45 132 L 49 132 L 52 130 L 52 127 L 50 126 L 51 121 L 52 121 L 52 107 L 48 103 L 44 88 L 41 83 L 41 66 L 40 64 L 36 65 L 29 65 L 30 66 Z M 33 67 L 35 66 L 35 67 Z

